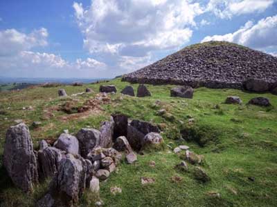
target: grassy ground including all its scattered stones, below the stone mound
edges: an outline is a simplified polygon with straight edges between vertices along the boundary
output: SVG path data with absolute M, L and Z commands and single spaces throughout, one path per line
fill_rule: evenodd
M 276 95 L 62 87 L 1 92 L 0 206 L 276 206 Z

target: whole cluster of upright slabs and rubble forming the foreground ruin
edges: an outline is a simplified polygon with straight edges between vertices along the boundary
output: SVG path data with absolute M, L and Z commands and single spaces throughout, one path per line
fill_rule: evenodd
M 99 181 L 116 170 L 122 153 L 132 164 L 136 152 L 162 142 L 157 126 L 112 115 L 99 130 L 82 128 L 75 136 L 62 133 L 53 146 L 39 141 L 36 151 L 28 126 L 21 123 L 6 132 L 3 164 L 15 186 L 25 192 L 31 192 L 39 181 L 52 179 L 37 206 L 75 206 L 85 189 L 98 194 Z

